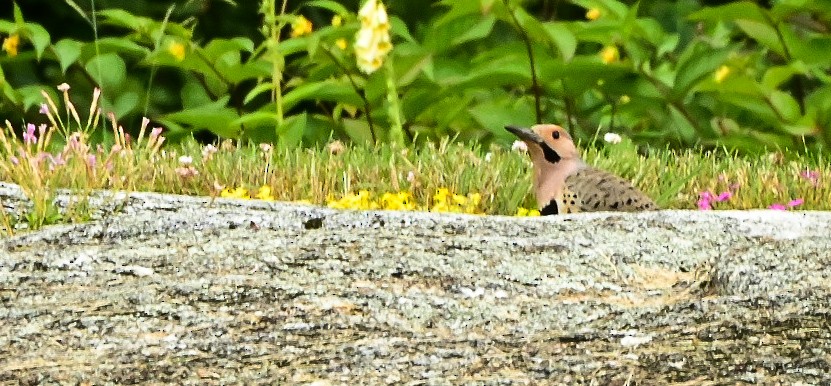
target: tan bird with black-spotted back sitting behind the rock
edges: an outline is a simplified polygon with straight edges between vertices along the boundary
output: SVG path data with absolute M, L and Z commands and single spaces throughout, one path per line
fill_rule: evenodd
M 568 132 L 555 124 L 505 126 L 528 146 L 540 214 L 656 210 L 629 181 L 587 165 Z

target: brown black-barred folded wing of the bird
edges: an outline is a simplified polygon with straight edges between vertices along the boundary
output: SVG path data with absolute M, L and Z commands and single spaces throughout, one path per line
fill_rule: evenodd
M 581 212 L 655 210 L 658 206 L 629 181 L 595 168 L 584 168 L 566 178 L 578 197 Z

